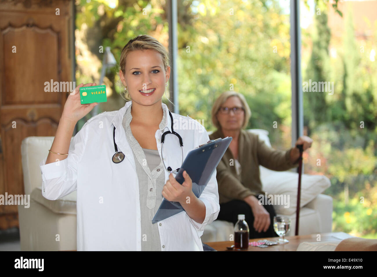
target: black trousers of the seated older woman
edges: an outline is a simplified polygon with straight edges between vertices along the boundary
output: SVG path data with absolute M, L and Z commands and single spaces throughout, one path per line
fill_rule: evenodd
M 260 194 L 262 197 L 264 197 L 264 194 Z M 259 195 L 256 195 L 257 199 Z M 267 203 L 267 199 L 265 199 L 265 203 Z M 268 211 L 270 214 L 270 226 L 268 227 L 267 231 L 261 231 L 261 233 L 258 233 L 254 227 L 254 215 L 253 211 L 251 211 L 251 207 L 249 204 L 247 204 L 243 200 L 231 200 L 227 203 L 220 204 L 220 212 L 217 217 L 219 220 L 225 220 L 232 222 L 233 225 L 236 224 L 238 221 L 238 215 L 244 214 L 245 215 L 245 221 L 247 222 L 247 225 L 249 226 L 249 238 L 250 239 L 257 239 L 262 237 L 278 237 L 278 235 L 274 231 L 274 216 L 276 216 L 275 210 L 273 205 L 265 204 L 263 207 Z

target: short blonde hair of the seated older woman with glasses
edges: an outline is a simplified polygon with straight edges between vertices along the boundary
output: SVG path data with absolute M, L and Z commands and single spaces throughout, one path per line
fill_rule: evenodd
M 251 111 L 250 111 L 249 105 L 246 102 L 245 97 L 239 92 L 228 90 L 226 92 L 221 93 L 221 95 L 215 100 L 215 103 L 212 106 L 211 119 L 212 119 L 213 125 L 215 125 L 217 129 L 221 129 L 221 126 L 218 119 L 216 118 L 216 114 L 219 112 L 221 105 L 224 104 L 225 101 L 227 101 L 227 99 L 231 96 L 237 96 L 241 100 L 242 107 L 244 108 L 245 116 L 244 116 L 244 124 L 242 125 L 242 129 L 244 129 L 249 122 Z

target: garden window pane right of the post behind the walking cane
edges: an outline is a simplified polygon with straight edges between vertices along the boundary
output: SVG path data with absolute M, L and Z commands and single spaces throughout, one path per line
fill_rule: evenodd
M 305 173 L 324 174 L 333 231 L 376 238 L 377 1 L 301 3 Z

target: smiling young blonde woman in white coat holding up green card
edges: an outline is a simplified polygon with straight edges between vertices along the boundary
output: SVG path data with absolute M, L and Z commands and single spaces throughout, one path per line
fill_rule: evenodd
M 43 196 L 55 200 L 77 190 L 77 250 L 203 251 L 200 237 L 220 208 L 216 172 L 199 198 L 186 172 L 184 183 L 176 182 L 172 171 L 182 164 L 182 148 L 172 131 L 182 138 L 183 159 L 209 140 L 207 132 L 162 103 L 170 66 L 155 38 L 139 35 L 124 46 L 119 75 L 131 101 L 90 118 L 72 141 L 77 121 L 98 104 L 81 105 L 79 88 L 96 84 L 80 84 L 68 96 L 40 164 Z M 196 128 L 173 128 L 180 120 Z M 163 198 L 184 211 L 152 224 Z

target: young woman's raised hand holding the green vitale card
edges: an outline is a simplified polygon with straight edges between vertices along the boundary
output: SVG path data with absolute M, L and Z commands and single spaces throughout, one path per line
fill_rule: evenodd
M 91 104 L 81 104 L 80 102 L 80 87 L 91 87 L 95 85 L 95 83 L 79 84 L 75 90 L 69 94 L 67 101 L 64 104 L 61 118 L 77 123 L 77 121 L 86 116 L 95 106 L 97 106 L 97 102 Z

